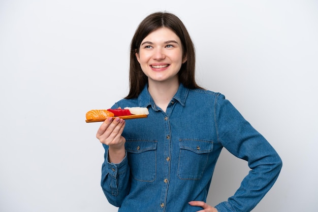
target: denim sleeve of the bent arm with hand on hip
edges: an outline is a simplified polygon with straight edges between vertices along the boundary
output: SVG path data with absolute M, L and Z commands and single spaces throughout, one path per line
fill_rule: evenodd
M 216 205 L 218 212 L 250 211 L 270 190 L 278 178 L 282 161 L 267 142 L 220 94 L 215 105 L 218 142 L 251 169 L 228 201 Z

